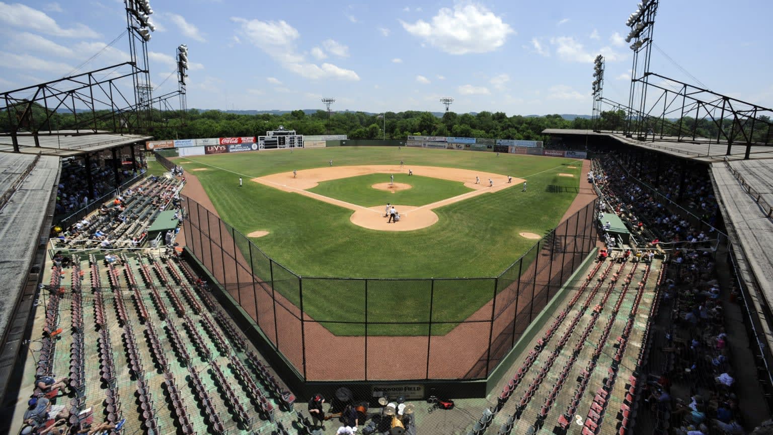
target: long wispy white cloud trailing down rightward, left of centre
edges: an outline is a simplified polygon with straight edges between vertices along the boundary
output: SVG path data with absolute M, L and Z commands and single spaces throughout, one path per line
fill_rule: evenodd
M 233 17 L 231 21 L 240 25 L 239 31 L 243 38 L 247 38 L 250 43 L 263 50 L 282 67 L 301 77 L 359 80 L 359 76 L 353 70 L 347 70 L 332 63 L 322 63 L 322 65 L 308 63 L 295 47 L 295 41 L 301 37 L 301 34 L 284 20 L 261 21 Z

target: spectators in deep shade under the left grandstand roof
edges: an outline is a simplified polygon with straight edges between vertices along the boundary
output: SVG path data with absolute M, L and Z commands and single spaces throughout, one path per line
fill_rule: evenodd
M 87 173 L 91 174 L 94 187 L 91 192 L 89 192 Z M 145 173 L 145 168 L 141 168 L 139 172 L 119 170 L 118 180 L 123 183 L 142 173 Z M 81 159 L 63 163 L 56 193 L 55 214 L 57 216 L 71 214 L 115 188 L 115 173 L 110 166 L 99 166 L 96 162 L 91 162 L 90 168 L 87 169 Z

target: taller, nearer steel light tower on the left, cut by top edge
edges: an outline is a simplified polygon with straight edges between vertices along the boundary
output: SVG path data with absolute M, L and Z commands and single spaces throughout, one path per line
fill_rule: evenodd
M 153 9 L 149 0 L 124 0 L 126 7 L 126 27 L 129 33 L 129 53 L 131 63 L 140 73 L 133 76 L 135 85 L 135 104 L 137 104 L 137 125 L 149 128 L 151 125 L 152 87 L 148 62 L 148 41 L 155 26 L 150 22 Z M 137 43 L 139 43 L 139 50 Z

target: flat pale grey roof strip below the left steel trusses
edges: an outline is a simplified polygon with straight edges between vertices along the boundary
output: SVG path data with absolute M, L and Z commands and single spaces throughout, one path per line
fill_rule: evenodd
M 39 135 L 40 146 L 35 146 L 35 138 L 32 135 L 18 135 L 20 152 L 70 157 L 152 139 L 152 136 L 121 135 L 108 132 L 84 133 L 75 130 L 60 130 L 54 133 L 58 134 Z M 0 151 L 13 151 L 11 135 L 0 135 Z

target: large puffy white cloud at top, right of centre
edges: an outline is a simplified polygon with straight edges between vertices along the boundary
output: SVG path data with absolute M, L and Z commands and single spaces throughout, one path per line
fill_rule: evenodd
M 450 54 L 488 53 L 504 45 L 515 33 L 499 16 L 483 5 L 457 3 L 454 9 L 442 8 L 431 22 L 413 24 L 400 20 L 410 34 Z

